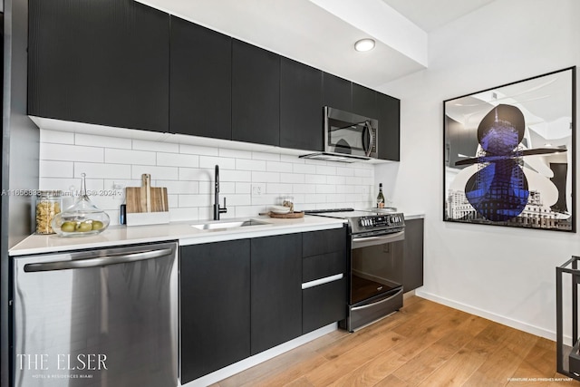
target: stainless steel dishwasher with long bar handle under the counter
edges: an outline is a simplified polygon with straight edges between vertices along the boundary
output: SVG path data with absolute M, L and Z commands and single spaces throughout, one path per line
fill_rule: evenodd
M 178 385 L 178 246 L 15 256 L 14 385 Z

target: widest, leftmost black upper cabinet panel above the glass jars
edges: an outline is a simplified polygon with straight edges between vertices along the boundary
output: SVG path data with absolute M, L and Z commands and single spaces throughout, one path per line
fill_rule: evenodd
M 133 0 L 28 5 L 28 114 L 168 131 L 168 14 Z

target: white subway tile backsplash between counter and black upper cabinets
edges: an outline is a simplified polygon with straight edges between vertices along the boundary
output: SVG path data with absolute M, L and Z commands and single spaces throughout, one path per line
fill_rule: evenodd
M 68 125 L 70 126 L 70 125 Z M 368 208 L 374 198 L 372 164 L 304 160 L 297 156 L 190 144 L 40 131 L 39 189 L 80 189 L 87 176 L 92 201 L 119 224 L 124 190 L 140 187 L 150 173 L 152 187 L 167 187 L 171 221 L 211 219 L 214 168 L 219 165 L 221 218 L 255 217 L 290 194 L 295 210 Z M 191 141 L 189 141 L 191 142 Z M 261 195 L 253 195 L 252 187 Z M 72 200 L 68 200 L 69 203 Z

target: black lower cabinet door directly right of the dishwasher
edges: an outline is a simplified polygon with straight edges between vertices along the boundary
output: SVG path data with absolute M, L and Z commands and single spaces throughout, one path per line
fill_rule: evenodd
M 181 383 L 250 355 L 249 239 L 180 248 Z

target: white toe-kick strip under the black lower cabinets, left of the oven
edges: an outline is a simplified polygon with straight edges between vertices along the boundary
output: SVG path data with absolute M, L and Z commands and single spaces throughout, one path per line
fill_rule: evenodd
M 208 385 L 213 384 L 215 382 L 222 381 L 222 380 L 224 380 L 232 375 L 235 375 L 236 373 L 246 371 L 248 368 L 251 368 L 259 363 L 266 362 L 266 360 L 273 359 L 273 358 L 275 358 L 275 356 L 278 356 L 282 353 L 293 350 L 302 344 L 309 343 L 309 342 L 313 341 L 314 339 L 317 339 L 319 337 L 324 336 L 324 334 L 330 334 L 331 332 L 336 331 L 337 329 L 338 329 L 338 324 L 336 324 L 336 323 L 323 326 L 322 328 L 318 328 L 317 330 L 315 330 L 313 332 L 310 332 L 308 334 L 303 334 L 300 337 L 296 337 L 294 340 L 290 340 L 289 342 L 282 343 L 282 344 L 275 346 L 274 348 L 270 348 L 269 350 L 264 351 L 262 353 L 257 353 L 254 356 L 250 356 L 247 359 L 244 359 L 240 362 L 228 365 L 227 367 L 224 367 L 216 372 L 208 373 L 207 375 L 202 376 L 199 379 L 196 379 L 195 381 L 191 381 L 189 383 L 179 384 L 179 385 L 181 385 L 183 387 L 201 387 L 201 386 L 205 387 L 205 386 L 208 386 Z

